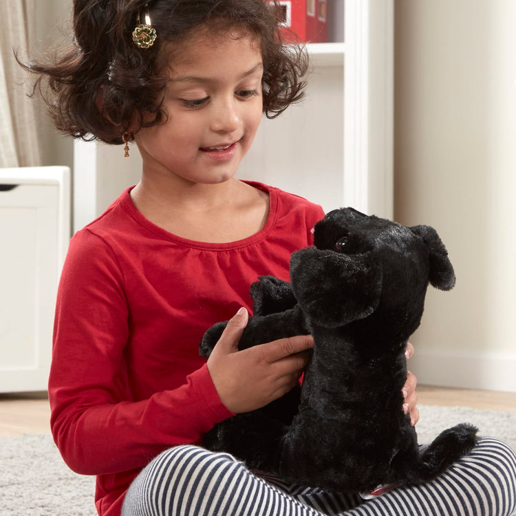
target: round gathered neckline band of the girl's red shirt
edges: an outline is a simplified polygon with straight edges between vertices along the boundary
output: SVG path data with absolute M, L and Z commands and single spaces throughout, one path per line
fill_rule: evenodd
M 246 237 L 241 240 L 231 241 L 231 242 L 203 242 L 190 240 L 184 237 L 180 237 L 173 233 L 170 233 L 166 229 L 158 226 L 151 222 L 147 217 L 144 217 L 138 208 L 133 204 L 131 200 L 131 190 L 134 186 L 130 186 L 126 191 L 122 194 L 121 204 L 122 207 L 125 208 L 126 211 L 129 212 L 129 215 L 138 223 L 140 226 L 143 226 L 146 230 L 153 233 L 153 235 L 158 236 L 162 239 L 169 240 L 178 244 L 180 246 L 194 248 L 194 249 L 204 249 L 204 250 L 232 250 L 243 248 L 246 246 L 250 246 L 251 244 L 255 244 L 257 241 L 264 239 L 266 235 L 270 232 L 272 227 L 275 225 L 275 221 L 277 218 L 277 207 L 278 207 L 278 197 L 276 189 L 271 188 L 270 186 L 257 182 L 257 181 L 248 181 L 241 180 L 242 182 L 249 184 L 255 189 L 264 191 L 268 193 L 269 196 L 269 212 L 266 220 L 266 224 L 261 230 L 259 230 L 254 235 L 250 235 L 250 237 Z

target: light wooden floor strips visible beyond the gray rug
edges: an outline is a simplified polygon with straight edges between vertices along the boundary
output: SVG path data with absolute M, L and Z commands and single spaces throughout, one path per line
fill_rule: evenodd
M 418 385 L 421 405 L 472 407 L 516 412 L 516 393 Z M 50 432 L 45 393 L 0 394 L 0 437 Z

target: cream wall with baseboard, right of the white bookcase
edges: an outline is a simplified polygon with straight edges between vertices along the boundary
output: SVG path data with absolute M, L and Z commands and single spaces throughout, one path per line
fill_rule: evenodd
M 396 0 L 395 217 L 458 278 L 429 290 L 421 383 L 516 391 L 516 3 Z

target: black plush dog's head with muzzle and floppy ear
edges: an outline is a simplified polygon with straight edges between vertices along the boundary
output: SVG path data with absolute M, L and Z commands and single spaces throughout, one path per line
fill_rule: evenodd
M 409 228 L 341 208 L 315 225 L 314 244 L 294 252 L 290 277 L 301 308 L 326 327 L 380 312 L 377 319 L 394 318 L 413 332 L 428 284 L 455 284 L 447 250 L 430 226 Z

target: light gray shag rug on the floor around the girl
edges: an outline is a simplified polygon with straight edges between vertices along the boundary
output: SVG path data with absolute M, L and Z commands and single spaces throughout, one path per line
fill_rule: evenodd
M 453 424 L 471 422 L 480 435 L 500 438 L 516 449 L 516 412 L 419 409 L 420 443 Z M 0 516 L 95 516 L 94 484 L 93 477 L 67 468 L 50 434 L 0 438 Z

